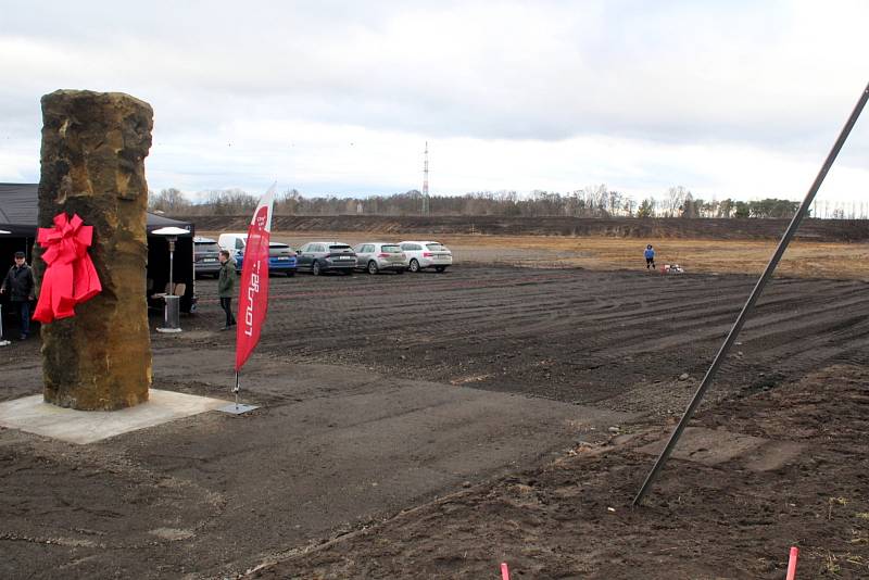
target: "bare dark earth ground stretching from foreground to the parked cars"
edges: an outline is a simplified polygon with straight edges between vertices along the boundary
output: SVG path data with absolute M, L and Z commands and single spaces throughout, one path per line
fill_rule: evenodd
M 754 277 L 533 265 L 274 277 L 264 409 L 0 431 L 0 576 L 780 578 L 792 544 L 801 578 L 869 575 L 866 283 L 776 280 L 631 510 Z M 215 290 L 152 336 L 155 387 L 228 394 Z M 37 349 L 8 348 L 2 400 L 39 392 Z

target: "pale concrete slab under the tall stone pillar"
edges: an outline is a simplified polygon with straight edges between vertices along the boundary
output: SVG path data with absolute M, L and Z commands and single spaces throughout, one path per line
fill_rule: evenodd
M 227 404 L 222 399 L 151 389 L 149 401 L 121 411 L 76 411 L 46 403 L 41 394 L 0 403 L 0 427 L 87 444 L 121 433 L 198 415 Z

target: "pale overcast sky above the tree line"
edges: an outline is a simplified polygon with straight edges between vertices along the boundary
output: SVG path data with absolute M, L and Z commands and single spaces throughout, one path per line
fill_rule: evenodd
M 0 181 L 39 99 L 154 109 L 153 190 L 802 199 L 869 81 L 869 2 L 0 0 Z M 820 200 L 869 200 L 869 111 Z

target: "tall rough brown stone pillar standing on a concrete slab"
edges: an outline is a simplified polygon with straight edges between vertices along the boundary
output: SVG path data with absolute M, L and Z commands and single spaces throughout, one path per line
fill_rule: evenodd
M 144 157 L 153 112 L 119 92 L 59 90 L 42 97 L 42 122 L 39 226 L 64 211 L 95 226 L 90 255 L 103 287 L 75 317 L 42 327 L 45 398 L 77 409 L 133 406 L 151 384 Z

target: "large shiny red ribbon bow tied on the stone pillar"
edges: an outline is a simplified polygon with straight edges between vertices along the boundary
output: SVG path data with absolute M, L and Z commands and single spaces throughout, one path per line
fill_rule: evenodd
M 88 255 L 93 226 L 85 226 L 78 214 L 54 216 L 53 228 L 39 228 L 37 241 L 46 248 L 42 260 L 48 267 L 42 277 L 34 320 L 50 323 L 75 316 L 73 307 L 102 291 L 97 268 Z

